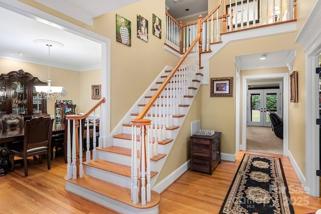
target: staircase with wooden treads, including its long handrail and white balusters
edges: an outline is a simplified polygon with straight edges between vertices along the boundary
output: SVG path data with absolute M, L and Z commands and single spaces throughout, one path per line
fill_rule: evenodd
M 225 16 L 221 19 L 224 20 Z M 206 17 L 205 20 L 209 21 L 209 18 Z M 171 21 L 167 20 L 167 23 L 173 25 Z M 164 68 L 115 127 L 112 143 L 105 148 L 99 145 L 99 148 L 94 149 L 92 161 L 87 160 L 81 164 L 82 158 L 79 158 L 79 165 L 83 165 L 83 169 L 79 166 L 79 174 L 81 174 L 79 177 L 81 178 L 75 176 L 76 170 L 70 172 L 70 168 L 76 168 L 77 163 L 75 158 L 71 165 L 71 158 L 69 158 L 65 177 L 67 191 L 117 212 L 147 214 L 159 212 L 158 203 L 161 196 L 152 189 L 201 85 L 203 79 L 203 74 L 199 72 L 201 60 L 207 62 L 214 53 L 229 42 L 244 37 L 244 31 L 236 31 L 233 33 L 234 36 L 225 34 L 223 35 L 224 40 L 216 43 L 215 49 L 213 49 L 214 46 L 212 47 L 212 52 L 210 47 L 206 49 L 206 52 L 203 50 L 204 54 L 201 58 L 202 47 L 197 45 L 197 43 L 201 44 L 199 41 L 202 41 L 201 23 L 200 19 L 197 24 L 199 26 L 197 36 L 178 64 L 174 68 Z M 259 29 L 260 32 L 264 32 L 262 28 L 252 29 L 252 31 Z M 252 32 L 251 35 L 253 37 L 258 34 Z M 168 40 L 173 43 L 175 41 L 173 38 L 168 37 Z M 177 49 L 185 51 L 185 48 L 179 45 Z M 182 55 L 182 52 L 180 54 Z M 204 70 L 206 73 L 209 69 L 205 67 Z M 145 124 L 139 125 L 139 121 Z M 141 130 L 142 134 L 140 134 Z M 141 138 L 141 135 L 144 137 Z M 145 143 L 146 147 L 143 147 Z M 70 146 L 69 143 L 68 146 Z M 141 148 L 142 152 L 140 152 Z M 73 156 L 76 156 L 75 154 L 76 152 L 73 151 Z M 87 151 L 86 156 L 90 157 L 90 152 Z M 150 161 L 145 161 L 146 159 Z M 71 179 L 71 174 L 74 179 Z

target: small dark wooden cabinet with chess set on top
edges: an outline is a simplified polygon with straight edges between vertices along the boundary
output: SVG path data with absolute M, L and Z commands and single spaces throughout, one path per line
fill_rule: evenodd
M 221 161 L 221 133 L 215 132 L 212 136 L 192 135 L 190 170 L 207 172 L 210 175 Z

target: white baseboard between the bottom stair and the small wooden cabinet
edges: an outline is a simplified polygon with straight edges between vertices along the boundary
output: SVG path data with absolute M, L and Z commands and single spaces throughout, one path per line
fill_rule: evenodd
M 189 168 L 190 168 L 190 160 L 182 164 L 179 168 L 177 168 L 175 171 L 173 171 L 171 174 L 169 174 L 167 177 L 161 180 L 161 182 L 158 182 L 157 184 L 155 184 L 153 190 L 161 194 L 170 185 L 172 185 L 172 183 L 174 183 L 182 174 L 184 174 L 184 172 L 189 170 Z

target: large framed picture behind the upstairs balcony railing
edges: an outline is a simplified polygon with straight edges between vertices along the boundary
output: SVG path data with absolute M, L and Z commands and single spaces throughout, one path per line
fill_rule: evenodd
M 231 7 L 229 4 L 226 5 L 227 14 L 230 15 L 231 12 L 233 11 L 232 12 L 233 13 L 233 17 L 232 17 L 233 28 L 235 28 L 235 24 L 237 24 L 238 27 L 241 27 L 241 24 L 246 25 L 246 21 L 241 20 L 242 17 L 244 18 L 244 17 L 249 16 L 249 24 L 250 25 L 253 24 L 253 21 L 255 23 L 259 22 L 259 13 L 258 13 L 259 3 L 258 3 L 258 1 L 257 0 L 249 0 L 248 3 L 249 4 L 247 5 L 247 0 L 245 0 L 245 1 L 243 1 L 243 6 L 242 6 L 241 1 L 238 2 L 237 5 L 235 5 L 235 3 L 231 4 Z M 227 19 L 227 20 L 228 20 L 227 25 L 229 27 L 231 24 L 230 19 Z

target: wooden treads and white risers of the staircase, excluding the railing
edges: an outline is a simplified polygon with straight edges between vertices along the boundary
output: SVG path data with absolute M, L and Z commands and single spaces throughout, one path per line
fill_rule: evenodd
M 113 145 L 106 148 L 97 149 L 97 160 L 87 163 L 83 162 L 84 175 L 78 179 L 67 179 L 66 190 L 73 192 L 79 196 L 88 198 L 102 206 L 113 209 L 122 213 L 158 213 L 158 203 L 161 200 L 161 196 L 156 191 L 151 190 L 151 200 L 146 202 L 145 205 L 141 203 L 134 204 L 131 200 L 131 144 L 132 144 L 132 125 L 130 120 L 134 119 L 141 109 L 148 103 L 156 89 L 167 78 L 172 68 L 166 67 L 161 74 L 158 75 L 156 80 L 146 90 L 142 99 L 138 101 L 139 104 L 136 107 L 131 108 L 128 112 L 128 117 L 124 117 L 124 121 L 121 125 L 121 133 L 113 135 Z M 170 85 L 176 84 L 175 78 L 178 78 L 178 73 Z M 162 170 L 162 167 L 166 161 L 172 145 L 175 142 L 176 136 L 179 133 L 182 126 L 185 115 L 188 113 L 190 105 L 194 100 L 198 88 L 200 87 L 202 74 L 195 73 L 196 78 L 193 79 L 192 85 L 188 87 L 188 95 L 184 95 L 184 104 L 179 104 L 179 111 L 173 115 L 172 126 L 166 127 L 166 139 L 159 140 L 158 146 L 153 148 L 154 155 L 150 158 L 150 184 L 153 188 L 158 173 Z M 167 88 L 170 90 L 170 87 Z M 169 92 L 163 93 L 160 99 L 166 99 Z M 168 107 L 166 104 L 162 104 L 162 101 L 156 101 L 156 104 L 152 105 L 150 113 L 145 118 L 151 120 L 153 128 L 157 125 L 155 118 L 157 116 L 162 117 L 162 113 L 165 110 L 159 110 L 161 108 Z M 157 110 L 158 109 L 158 110 Z M 154 112 L 154 113 L 152 113 Z M 155 112 L 158 112 L 157 114 Z M 137 133 L 138 132 L 137 128 Z M 117 128 L 116 128 L 117 130 Z M 119 130 L 119 129 L 118 129 Z M 137 156 L 139 157 L 140 148 L 140 136 L 137 134 Z M 137 161 L 139 166 L 139 160 Z M 140 179 L 140 178 L 138 178 Z

